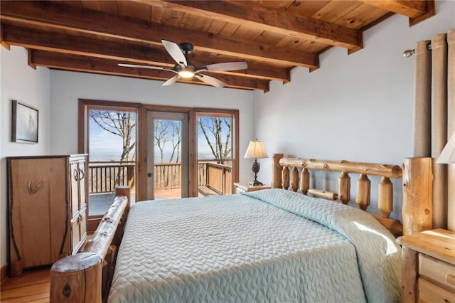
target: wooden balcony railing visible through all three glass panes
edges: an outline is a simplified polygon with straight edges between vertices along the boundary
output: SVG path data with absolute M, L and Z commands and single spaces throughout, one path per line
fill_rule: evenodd
M 198 161 L 198 186 L 207 186 L 218 194 L 230 194 L 231 166 Z M 155 164 L 156 189 L 181 188 L 181 163 Z M 134 162 L 90 162 L 89 193 L 112 193 L 115 186 L 134 188 Z

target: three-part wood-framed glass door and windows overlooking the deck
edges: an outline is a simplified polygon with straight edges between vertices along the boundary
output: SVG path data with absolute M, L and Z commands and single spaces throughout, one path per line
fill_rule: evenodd
M 238 110 L 80 99 L 78 115 L 93 228 L 116 186 L 133 204 L 230 194 L 238 181 Z

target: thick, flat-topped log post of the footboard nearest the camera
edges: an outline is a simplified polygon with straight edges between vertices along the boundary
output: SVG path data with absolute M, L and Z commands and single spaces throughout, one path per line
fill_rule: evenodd
M 81 252 L 55 262 L 50 269 L 50 303 L 101 303 L 102 258 Z

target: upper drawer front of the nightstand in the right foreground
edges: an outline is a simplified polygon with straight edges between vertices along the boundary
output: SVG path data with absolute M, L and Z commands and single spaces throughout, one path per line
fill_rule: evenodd
M 419 275 L 455 292 L 455 266 L 419 254 Z

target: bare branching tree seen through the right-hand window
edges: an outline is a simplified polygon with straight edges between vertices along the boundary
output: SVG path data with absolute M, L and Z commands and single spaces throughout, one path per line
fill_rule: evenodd
M 227 159 L 231 153 L 232 119 L 225 117 L 198 117 L 198 125 L 215 159 Z M 227 128 L 223 138 L 223 125 Z M 210 134 L 214 139 L 210 138 Z

